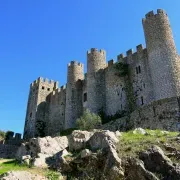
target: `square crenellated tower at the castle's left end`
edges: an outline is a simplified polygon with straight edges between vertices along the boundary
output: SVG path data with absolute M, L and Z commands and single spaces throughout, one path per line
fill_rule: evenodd
M 46 126 L 46 108 L 47 96 L 58 88 L 58 82 L 49 81 L 48 79 L 38 78 L 30 85 L 28 105 L 26 111 L 26 120 L 24 126 L 24 139 L 35 137 L 38 133 L 36 123 L 41 121 L 39 128 L 43 130 Z

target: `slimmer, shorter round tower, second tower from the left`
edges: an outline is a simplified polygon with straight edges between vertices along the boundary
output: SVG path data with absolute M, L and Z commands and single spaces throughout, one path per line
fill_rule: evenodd
M 84 65 L 76 61 L 68 64 L 66 87 L 65 129 L 75 126 L 77 118 L 82 115 L 82 80 Z

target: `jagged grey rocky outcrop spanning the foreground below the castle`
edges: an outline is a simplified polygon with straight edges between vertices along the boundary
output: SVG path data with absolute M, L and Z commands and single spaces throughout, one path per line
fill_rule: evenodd
M 159 132 L 164 136 L 168 132 Z M 155 132 L 137 128 L 133 136 L 141 134 L 155 136 Z M 158 146 L 138 152 L 136 157 L 118 156 L 116 145 L 123 138 L 123 133 L 108 130 L 74 131 L 68 137 L 34 138 L 24 143 L 18 150 L 17 157 L 26 164 L 32 162 L 36 167 L 49 167 L 62 174 L 78 179 L 103 180 L 178 180 L 180 167 L 164 154 Z M 173 141 L 179 142 L 179 137 Z M 170 138 L 171 139 L 171 138 Z M 179 151 L 170 144 L 164 148 L 176 155 Z M 69 151 L 69 152 L 68 152 Z M 176 153 L 176 154 L 175 154 Z

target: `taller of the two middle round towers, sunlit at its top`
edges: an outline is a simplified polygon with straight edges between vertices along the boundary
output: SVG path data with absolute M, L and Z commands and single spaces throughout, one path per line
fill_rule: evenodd
M 105 105 L 106 52 L 92 48 L 87 52 L 87 108 L 98 113 Z

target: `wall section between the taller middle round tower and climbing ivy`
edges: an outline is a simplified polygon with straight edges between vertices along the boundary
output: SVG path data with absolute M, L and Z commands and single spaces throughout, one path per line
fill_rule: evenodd
M 106 115 L 114 115 L 120 111 L 127 110 L 127 98 L 124 77 L 120 76 L 119 70 L 113 60 L 108 62 L 105 69 L 105 96 Z

